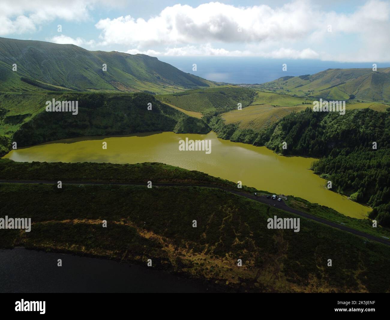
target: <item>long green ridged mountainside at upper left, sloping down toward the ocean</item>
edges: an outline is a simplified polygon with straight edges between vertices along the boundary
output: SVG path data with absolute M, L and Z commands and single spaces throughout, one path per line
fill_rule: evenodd
M 17 71 L 12 71 L 12 65 Z M 107 70 L 103 71 L 103 64 Z M 150 91 L 172 93 L 213 82 L 155 57 L 88 51 L 75 45 L 0 38 L 0 91 Z

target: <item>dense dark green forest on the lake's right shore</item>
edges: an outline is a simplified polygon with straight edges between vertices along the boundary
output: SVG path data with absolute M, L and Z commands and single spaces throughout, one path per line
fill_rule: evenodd
M 340 115 L 307 108 L 285 116 L 266 146 L 282 154 L 321 157 L 312 164 L 314 172 L 338 192 L 374 207 L 370 218 L 390 226 L 389 141 L 390 112 L 355 109 Z

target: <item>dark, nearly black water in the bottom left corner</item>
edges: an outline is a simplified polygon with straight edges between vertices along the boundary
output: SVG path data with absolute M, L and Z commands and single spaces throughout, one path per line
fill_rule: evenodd
M 57 266 L 62 259 L 62 266 Z M 148 267 L 71 254 L 0 250 L 0 292 L 211 292 L 188 279 Z

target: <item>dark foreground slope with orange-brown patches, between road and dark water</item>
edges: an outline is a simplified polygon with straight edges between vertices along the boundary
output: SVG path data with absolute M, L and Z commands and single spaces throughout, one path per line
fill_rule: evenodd
M 28 172 L 45 165 L 28 164 Z M 96 164 L 64 165 L 80 170 L 85 166 L 88 175 L 94 172 L 96 176 Z M 131 175 L 131 166 L 138 167 L 138 173 L 156 170 L 150 169 L 154 164 L 122 165 L 120 170 Z M 157 171 L 164 167 L 158 164 Z M 107 169 L 113 173 L 113 165 L 107 164 Z M 178 169 L 180 179 L 184 171 Z M 163 172 L 175 176 L 172 168 Z M 2 248 L 24 246 L 140 265 L 152 259 L 153 268 L 184 274 L 225 291 L 390 289 L 388 246 L 305 218 L 300 218 L 300 232 L 268 229 L 269 217 L 296 216 L 219 189 L 1 184 L 0 192 L 4 195 L 2 215 L 28 212 L 33 222 L 33 232 L 1 232 Z M 102 220 L 107 220 L 107 228 Z M 193 220 L 197 220 L 196 228 Z M 242 259 L 241 267 L 237 259 Z M 328 259 L 332 267 L 327 266 Z

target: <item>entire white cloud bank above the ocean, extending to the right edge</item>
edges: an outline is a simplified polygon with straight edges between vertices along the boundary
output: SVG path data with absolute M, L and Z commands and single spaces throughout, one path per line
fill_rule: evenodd
M 367 1 L 349 14 L 321 11 L 309 0 L 274 9 L 177 4 L 148 20 L 121 16 L 95 26 L 101 30 L 101 45 L 127 45 L 136 48 L 129 52 L 154 55 L 390 61 L 390 3 L 380 0 Z

